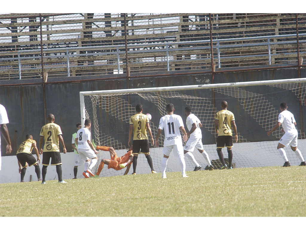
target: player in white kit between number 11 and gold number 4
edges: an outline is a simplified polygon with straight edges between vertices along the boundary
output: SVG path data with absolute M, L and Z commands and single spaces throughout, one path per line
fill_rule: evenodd
M 199 118 L 192 113 L 192 109 L 190 106 L 185 107 L 185 114 L 186 114 L 186 126 L 189 130 L 187 132 L 187 137 L 189 136 L 189 139 L 184 147 L 184 154 L 196 165 L 193 171 L 198 171 L 202 167 L 200 164 L 196 161 L 194 158 L 194 155 L 191 153 L 194 148 L 197 148 L 198 151 L 203 155 L 204 159 L 207 161 L 209 165 L 209 170 L 213 170 L 214 167 L 211 164 L 211 161 L 209 159 L 209 156 L 207 152 L 203 148 L 202 143 L 202 124 Z

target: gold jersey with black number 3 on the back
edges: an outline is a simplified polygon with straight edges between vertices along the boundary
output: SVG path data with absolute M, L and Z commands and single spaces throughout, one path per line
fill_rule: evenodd
M 133 140 L 148 139 L 147 123 L 149 122 L 148 116 L 143 113 L 136 113 L 130 118 L 130 125 L 133 125 L 134 128 Z

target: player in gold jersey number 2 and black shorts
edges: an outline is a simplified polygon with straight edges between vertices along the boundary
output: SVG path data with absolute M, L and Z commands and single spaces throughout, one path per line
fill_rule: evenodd
M 42 184 L 46 183 L 46 174 L 47 174 L 47 167 L 50 163 L 51 158 L 51 165 L 56 166 L 56 172 L 58 174 L 58 182 L 59 183 L 66 183 L 62 179 L 62 159 L 61 154 L 59 151 L 59 142 L 61 142 L 63 146 L 63 153 L 66 153 L 66 147 L 64 144 L 64 139 L 62 137 L 62 130 L 61 127 L 54 123 L 54 115 L 49 114 L 47 116 L 48 124 L 44 125 L 40 131 L 40 139 L 39 139 L 39 152 L 43 154 L 43 168 L 42 168 L 42 176 L 43 181 Z M 44 147 L 43 146 L 43 139 L 45 139 Z

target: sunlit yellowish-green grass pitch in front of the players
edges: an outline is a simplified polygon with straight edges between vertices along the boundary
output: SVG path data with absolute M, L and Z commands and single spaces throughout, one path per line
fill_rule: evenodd
M 1 217 L 305 217 L 306 167 L 0 185 Z

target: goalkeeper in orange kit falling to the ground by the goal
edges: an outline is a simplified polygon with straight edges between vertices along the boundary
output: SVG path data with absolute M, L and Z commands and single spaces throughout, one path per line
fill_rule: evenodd
M 97 146 L 97 150 L 103 150 L 103 151 L 109 151 L 110 152 L 110 159 L 102 159 L 101 163 L 99 165 L 99 168 L 95 174 L 95 177 L 99 177 L 104 164 L 107 164 L 107 168 L 113 168 L 114 170 L 121 170 L 126 167 L 126 170 L 123 175 L 128 174 L 132 161 L 133 161 L 133 154 L 132 154 L 132 149 L 133 147 L 131 146 L 128 150 L 128 152 L 121 156 L 118 157 L 116 151 L 114 150 L 113 147 L 106 147 L 106 146 Z

